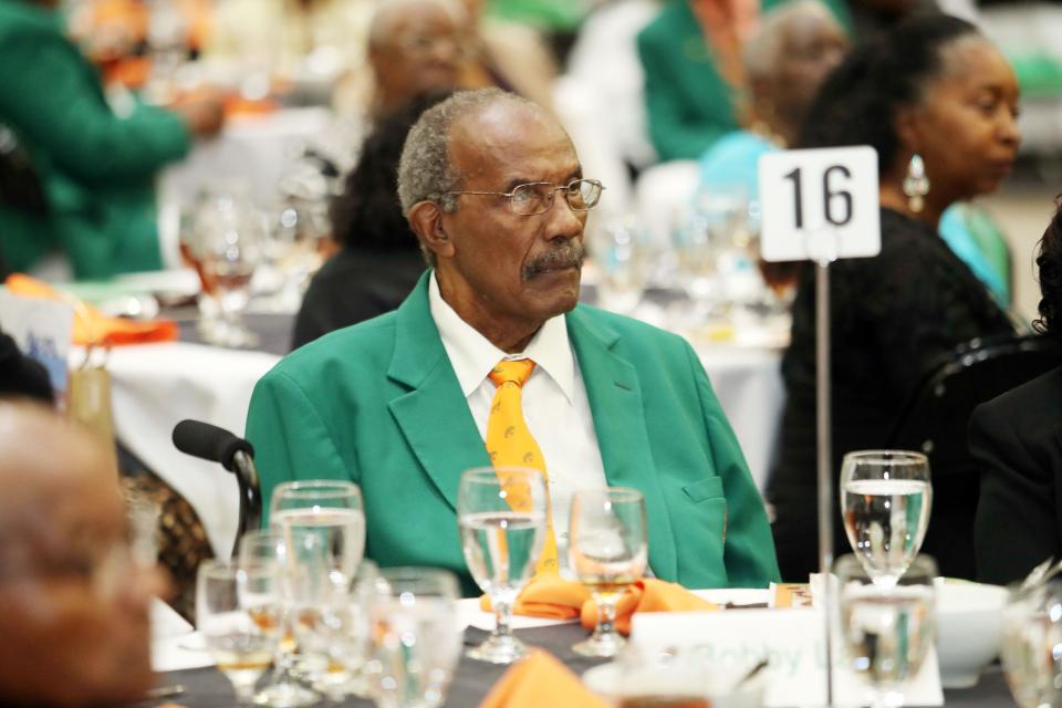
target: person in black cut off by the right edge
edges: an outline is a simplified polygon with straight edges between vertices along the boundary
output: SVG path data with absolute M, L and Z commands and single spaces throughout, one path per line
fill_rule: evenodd
M 1040 240 L 1040 319 L 1062 336 L 1062 209 Z M 1062 362 L 1060 362 L 1062 363 Z M 981 404 L 970 418 L 970 454 L 981 469 L 974 543 L 977 579 L 1007 585 L 1062 556 L 1062 368 Z

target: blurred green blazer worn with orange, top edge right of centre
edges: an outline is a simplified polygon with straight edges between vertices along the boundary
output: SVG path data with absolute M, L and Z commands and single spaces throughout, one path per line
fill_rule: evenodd
M 723 80 L 720 54 L 695 14 L 696 4 L 738 6 L 750 0 L 668 0 L 638 34 L 645 70 L 649 139 L 662 162 L 697 159 L 721 136 L 737 131 L 739 86 Z M 785 0 L 762 0 L 767 11 Z M 851 27 L 843 0 L 824 0 L 844 28 Z

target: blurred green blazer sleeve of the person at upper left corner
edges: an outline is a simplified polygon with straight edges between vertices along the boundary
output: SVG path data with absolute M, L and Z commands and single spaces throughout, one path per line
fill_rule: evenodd
M 35 11 L 0 2 L 0 122 L 38 158 L 85 186 L 113 186 L 143 183 L 188 152 L 189 134 L 171 112 L 116 116 L 58 20 Z

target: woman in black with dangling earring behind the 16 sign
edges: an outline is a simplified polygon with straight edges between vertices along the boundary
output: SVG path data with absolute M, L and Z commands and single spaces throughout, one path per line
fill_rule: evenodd
M 904 405 L 943 355 L 975 337 L 1013 333 L 940 238 L 938 222 L 951 204 L 993 191 L 1009 174 L 1017 110 L 1007 60 L 977 28 L 948 15 L 910 20 L 860 46 L 815 97 L 796 146 L 874 147 L 882 206 L 882 252 L 830 267 L 835 469 L 846 452 L 887 445 Z M 799 582 L 819 565 L 814 300 L 814 274 L 805 268 L 782 361 L 787 402 L 767 490 L 782 577 Z M 934 499 L 923 548 L 938 555 L 945 574 L 972 573 L 976 480 L 969 486 L 969 494 Z M 834 548 L 848 548 L 839 513 Z

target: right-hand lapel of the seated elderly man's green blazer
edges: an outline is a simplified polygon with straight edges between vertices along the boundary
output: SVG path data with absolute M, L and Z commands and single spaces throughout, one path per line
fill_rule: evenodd
M 615 353 L 620 334 L 583 306 L 568 315 L 568 333 L 586 386 L 605 478 L 612 487 L 634 487 L 645 494 L 649 564 L 658 576 L 676 577 L 675 534 L 653 464 L 637 371 Z

